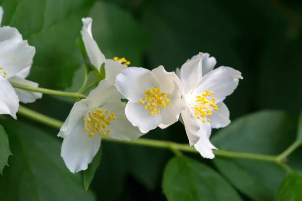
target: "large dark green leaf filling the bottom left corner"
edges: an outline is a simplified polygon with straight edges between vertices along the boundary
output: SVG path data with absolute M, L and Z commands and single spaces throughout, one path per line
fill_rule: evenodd
M 14 156 L 0 178 L 0 200 L 95 200 L 80 175 L 66 168 L 59 138 L 20 121 L 1 122 L 10 133 Z

